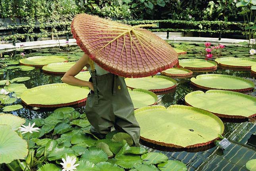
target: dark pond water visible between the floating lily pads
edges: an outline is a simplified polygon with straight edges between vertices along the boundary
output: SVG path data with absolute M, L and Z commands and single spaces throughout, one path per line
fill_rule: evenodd
M 183 48 L 188 51 L 188 54 L 181 55 L 179 58 L 205 58 L 201 52 L 204 49 L 203 45 L 198 44 L 188 44 L 180 43 L 175 45 L 177 48 Z M 26 51 L 26 56 L 44 56 L 44 55 L 60 55 L 60 56 L 71 56 L 71 60 L 76 60 L 82 56 L 83 52 L 76 47 L 68 47 L 69 50 L 51 48 L 51 49 L 34 49 Z M 19 53 L 19 52 L 17 52 Z M 13 56 L 13 60 L 19 55 Z M 247 48 L 228 46 L 223 50 L 222 57 L 249 57 Z M 254 81 L 255 79 L 250 75 L 250 71 L 235 71 L 231 69 L 221 69 L 218 67 L 216 71 L 203 71 L 194 72 L 193 77 L 200 74 L 206 73 L 216 73 L 216 74 L 226 74 L 238 77 L 244 77 Z M 23 82 L 27 88 L 33 88 L 35 86 L 61 83 L 60 75 L 48 75 L 42 72 L 41 69 L 34 69 L 32 71 L 15 71 L 8 69 L 3 75 L 0 75 L 0 80 L 3 79 L 14 79 L 17 77 L 31 77 L 29 81 Z M 167 94 L 158 95 L 158 104 L 164 105 L 166 107 L 172 104 L 182 104 L 184 105 L 184 97 L 189 92 L 196 90 L 192 88 L 190 84 L 190 78 L 175 78 L 177 80 L 178 86 L 175 92 L 169 92 Z M 256 92 L 247 92 L 252 96 L 256 96 Z M 19 99 L 15 104 L 21 104 Z M 24 105 L 23 105 L 24 106 Z M 18 111 L 12 111 L 13 115 L 19 115 L 20 117 L 32 119 L 48 116 L 53 109 L 46 110 L 33 110 L 31 108 L 25 107 Z M 80 107 L 76 109 L 80 113 L 83 113 L 85 108 Z M 224 137 L 227 138 L 231 145 L 226 149 L 222 150 L 216 146 L 205 147 L 204 149 L 197 149 L 196 151 L 162 151 L 166 149 L 156 150 L 155 146 L 150 146 L 150 151 L 162 152 L 166 154 L 169 159 L 177 159 L 182 161 L 187 165 L 189 171 L 247 171 L 245 163 L 250 159 L 256 159 L 256 147 L 255 144 L 251 144 L 250 141 L 254 140 L 252 134 L 256 133 L 255 122 L 243 121 L 240 123 L 234 123 L 232 120 L 226 120 L 225 123 L 225 134 Z M 248 139 L 251 138 L 249 141 Z M 147 144 L 149 145 L 149 144 Z

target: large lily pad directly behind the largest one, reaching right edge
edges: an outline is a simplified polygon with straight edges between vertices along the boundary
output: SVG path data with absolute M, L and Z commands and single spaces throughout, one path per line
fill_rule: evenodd
M 194 91 L 185 96 L 187 104 L 220 117 L 245 118 L 256 114 L 256 98 L 225 90 Z

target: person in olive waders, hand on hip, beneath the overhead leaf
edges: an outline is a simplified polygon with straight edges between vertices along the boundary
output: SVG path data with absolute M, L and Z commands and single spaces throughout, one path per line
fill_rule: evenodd
M 90 71 L 90 80 L 83 81 L 75 78 L 74 76 L 85 66 Z M 123 77 L 102 69 L 87 54 L 84 54 L 65 73 L 62 82 L 90 88 L 85 113 L 92 125 L 90 128 L 92 134 L 98 138 L 105 138 L 114 126 L 115 130 L 131 135 L 135 146 L 139 146 L 140 127 Z

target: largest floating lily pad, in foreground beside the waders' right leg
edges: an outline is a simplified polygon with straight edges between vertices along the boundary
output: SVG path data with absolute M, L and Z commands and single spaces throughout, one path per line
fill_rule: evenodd
M 141 138 L 162 146 L 204 146 L 224 131 L 223 122 L 216 115 L 189 106 L 148 106 L 135 110 L 135 116 Z

